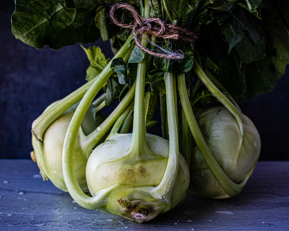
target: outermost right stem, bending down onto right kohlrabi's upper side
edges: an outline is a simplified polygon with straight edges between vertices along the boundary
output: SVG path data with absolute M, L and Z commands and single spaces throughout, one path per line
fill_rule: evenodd
M 216 97 L 236 118 L 239 130 L 240 130 L 240 142 L 238 151 L 236 154 L 235 162 L 238 160 L 238 156 L 243 144 L 244 139 L 244 124 L 241 118 L 241 112 L 234 106 L 234 104 L 212 83 L 210 78 L 205 74 L 204 70 L 201 68 L 199 63 L 196 59 L 194 59 L 194 71 L 198 75 L 199 79 L 202 81 L 202 83 L 208 88 L 210 92 L 212 92 L 212 95 Z

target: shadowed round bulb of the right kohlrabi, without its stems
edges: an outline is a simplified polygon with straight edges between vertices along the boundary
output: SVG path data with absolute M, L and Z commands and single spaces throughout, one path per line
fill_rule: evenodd
M 225 174 L 236 184 L 248 179 L 261 148 L 259 133 L 253 122 L 241 114 L 244 137 L 238 152 L 240 129 L 234 116 L 225 107 L 204 107 L 194 110 L 194 114 L 210 151 Z M 229 197 L 210 171 L 196 144 L 192 145 L 189 191 L 202 197 Z

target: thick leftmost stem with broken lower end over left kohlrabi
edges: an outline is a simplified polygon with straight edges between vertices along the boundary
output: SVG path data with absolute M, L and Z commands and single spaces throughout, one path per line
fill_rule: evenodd
M 132 50 L 133 48 L 131 47 L 132 39 L 133 36 L 130 35 L 125 44 L 122 46 L 122 48 L 116 53 L 114 58 L 127 57 L 126 54 L 129 53 L 129 51 Z M 43 135 L 46 129 L 49 127 L 49 125 L 54 120 L 56 120 L 62 113 L 64 113 L 64 111 L 66 111 L 68 108 L 72 107 L 75 103 L 81 100 L 81 98 L 84 96 L 84 94 L 92 85 L 99 84 L 99 82 L 101 81 L 103 82 L 103 84 L 106 82 L 106 80 L 110 77 L 110 75 L 113 74 L 113 70 L 111 70 L 110 68 L 112 60 L 97 77 L 85 83 L 77 90 L 75 90 L 62 100 L 55 103 L 51 108 L 49 108 L 47 111 L 42 113 L 42 115 L 40 115 L 36 120 L 34 120 L 34 122 L 32 123 L 32 133 L 37 140 L 42 142 Z M 124 61 L 127 62 L 127 60 Z M 102 87 L 102 85 L 100 87 Z

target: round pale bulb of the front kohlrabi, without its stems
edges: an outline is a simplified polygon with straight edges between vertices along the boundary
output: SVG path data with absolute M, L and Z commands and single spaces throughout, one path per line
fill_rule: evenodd
M 184 201 L 189 171 L 181 154 L 169 205 L 162 205 L 162 196 L 154 197 L 153 189 L 160 184 L 166 170 L 169 142 L 151 134 L 146 137 L 149 153 L 131 156 L 132 134 L 117 134 L 97 146 L 90 155 L 86 165 L 90 193 L 95 195 L 112 188 L 106 198 L 107 205 L 99 210 L 144 222 Z

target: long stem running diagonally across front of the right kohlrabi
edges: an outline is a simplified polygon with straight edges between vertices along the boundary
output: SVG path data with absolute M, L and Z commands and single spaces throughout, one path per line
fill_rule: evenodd
M 186 119 L 188 121 L 188 126 L 192 133 L 192 136 L 203 155 L 205 162 L 210 168 L 212 174 L 215 176 L 221 187 L 223 187 L 224 191 L 229 195 L 237 195 L 240 193 L 242 188 L 244 187 L 246 180 L 243 180 L 240 184 L 234 183 L 223 171 L 220 167 L 213 154 L 211 153 L 208 145 L 201 133 L 201 130 L 197 124 L 196 118 L 194 117 L 194 113 L 192 107 L 190 106 L 190 100 L 186 91 L 186 83 L 184 74 L 178 75 L 178 86 L 179 86 L 179 94 L 181 99 L 181 105 L 184 109 L 184 114 L 186 115 Z

